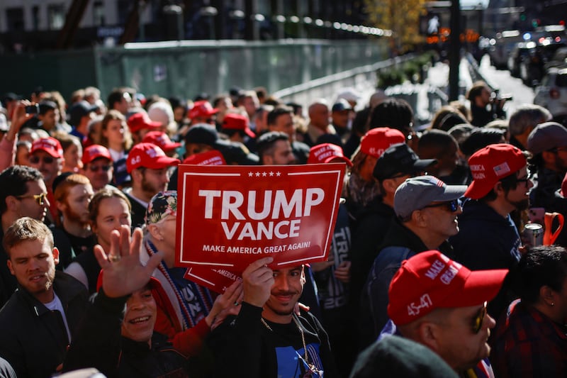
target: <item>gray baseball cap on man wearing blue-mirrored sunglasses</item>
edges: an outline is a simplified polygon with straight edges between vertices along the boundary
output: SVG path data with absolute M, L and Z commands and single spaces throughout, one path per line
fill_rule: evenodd
M 405 180 L 395 191 L 394 211 L 400 218 L 408 218 L 416 210 L 432 202 L 459 199 L 466 185 L 447 185 L 434 176 L 417 176 Z

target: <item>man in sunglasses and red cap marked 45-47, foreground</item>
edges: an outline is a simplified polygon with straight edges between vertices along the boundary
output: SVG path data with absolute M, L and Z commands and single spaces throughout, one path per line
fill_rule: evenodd
M 486 303 L 507 272 L 471 272 L 437 250 L 410 257 L 390 284 L 391 321 L 380 338 L 395 333 L 425 345 L 464 377 L 494 377 L 487 340 L 495 321 Z

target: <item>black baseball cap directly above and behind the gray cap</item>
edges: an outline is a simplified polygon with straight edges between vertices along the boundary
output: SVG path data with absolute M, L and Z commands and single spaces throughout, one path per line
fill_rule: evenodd
M 405 143 L 391 145 L 374 166 L 374 177 L 378 180 L 391 179 L 395 174 L 412 174 L 434 165 L 435 159 L 420 159 Z

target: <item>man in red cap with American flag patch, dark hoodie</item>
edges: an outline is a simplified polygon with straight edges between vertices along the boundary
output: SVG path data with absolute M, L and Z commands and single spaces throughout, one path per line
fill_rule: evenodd
M 468 159 L 473 182 L 464 196 L 458 234 L 449 242 L 455 260 L 471 270 L 514 269 L 520 261 L 520 234 L 510 218 L 514 210 L 528 206 L 534 186 L 527 172 L 524 153 L 512 145 L 498 143 L 478 150 Z M 510 283 L 488 304 L 488 313 L 498 319 L 513 299 Z

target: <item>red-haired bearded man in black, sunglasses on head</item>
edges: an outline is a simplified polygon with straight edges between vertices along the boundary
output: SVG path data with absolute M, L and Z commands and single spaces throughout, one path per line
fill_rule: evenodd
M 82 174 L 62 174 L 55 182 L 55 203 L 61 217 L 52 232 L 60 251 L 59 265 L 64 269 L 74 257 L 95 245 L 89 223 L 89 203 L 94 191 Z

